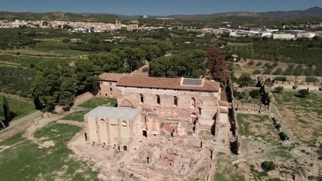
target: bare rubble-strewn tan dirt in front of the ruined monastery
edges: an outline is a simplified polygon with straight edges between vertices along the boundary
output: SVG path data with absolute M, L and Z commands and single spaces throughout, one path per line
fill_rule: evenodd
M 78 158 L 100 171 L 101 180 L 213 180 L 216 155 L 225 148 L 214 136 L 204 140 L 204 134 L 211 135 L 199 132 L 186 138 L 143 137 L 134 141 L 134 149 L 120 152 L 85 141 L 81 132 L 69 142 L 69 147 Z

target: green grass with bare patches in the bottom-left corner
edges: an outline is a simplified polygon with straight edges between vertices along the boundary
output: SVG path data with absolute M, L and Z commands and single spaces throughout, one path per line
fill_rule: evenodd
M 67 147 L 80 130 L 76 125 L 50 123 L 31 136 L 20 133 L 1 142 L 1 180 L 98 180 L 98 172 Z

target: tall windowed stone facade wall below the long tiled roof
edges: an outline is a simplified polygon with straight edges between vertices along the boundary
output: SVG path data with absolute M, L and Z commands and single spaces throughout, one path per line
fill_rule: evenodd
M 150 135 L 175 132 L 184 136 L 186 123 L 194 123 L 202 112 L 212 120 L 219 109 L 218 93 L 122 86 L 118 91 L 118 106 L 142 109 L 143 128 Z

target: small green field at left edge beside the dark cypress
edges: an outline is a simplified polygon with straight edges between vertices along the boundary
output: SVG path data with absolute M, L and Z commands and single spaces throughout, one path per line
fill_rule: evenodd
M 34 103 L 25 99 L 14 99 L 6 97 L 10 110 L 17 114 L 14 119 L 19 119 L 35 111 Z M 0 108 L 2 108 L 2 97 L 0 97 Z

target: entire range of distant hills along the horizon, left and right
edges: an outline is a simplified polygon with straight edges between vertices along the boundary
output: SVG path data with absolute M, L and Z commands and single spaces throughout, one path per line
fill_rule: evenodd
M 21 19 L 21 20 L 61 20 L 61 21 L 95 21 L 114 23 L 116 19 L 131 20 L 138 19 L 140 15 L 121 14 L 99 14 L 99 13 L 63 13 L 63 12 L 0 12 L 1 19 Z M 292 10 L 277 12 L 224 12 L 217 14 L 195 14 L 195 15 L 171 15 L 171 16 L 149 16 L 155 18 L 172 18 L 177 21 L 239 21 L 248 23 L 266 23 L 276 21 L 294 20 L 316 20 L 322 21 L 322 8 L 314 7 L 308 10 Z M 314 19 L 317 18 L 317 19 Z

